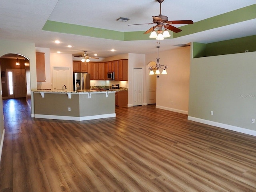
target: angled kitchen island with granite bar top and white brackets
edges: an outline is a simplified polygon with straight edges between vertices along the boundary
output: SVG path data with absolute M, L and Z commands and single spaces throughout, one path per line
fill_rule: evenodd
M 115 92 L 33 91 L 34 117 L 76 121 L 115 117 Z

